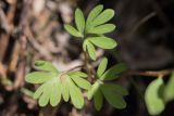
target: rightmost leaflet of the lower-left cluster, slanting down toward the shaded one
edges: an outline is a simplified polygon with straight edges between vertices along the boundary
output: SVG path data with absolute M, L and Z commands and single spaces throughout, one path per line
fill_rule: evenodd
M 74 82 L 83 89 L 89 90 L 91 88 L 90 82 L 88 82 L 87 80 L 85 80 L 84 78 L 80 78 L 76 75 L 71 76 L 71 78 L 74 80 Z

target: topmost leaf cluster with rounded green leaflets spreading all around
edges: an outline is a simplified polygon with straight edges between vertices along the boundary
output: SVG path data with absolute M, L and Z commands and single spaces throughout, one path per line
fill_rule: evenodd
M 96 47 L 102 49 L 113 49 L 116 42 L 103 34 L 111 33 L 115 29 L 114 24 L 105 24 L 114 16 L 114 11 L 107 9 L 102 12 L 103 5 L 97 5 L 91 10 L 85 22 L 84 14 L 80 9 L 75 11 L 76 28 L 64 25 L 69 34 L 84 39 L 83 49 L 88 52 L 91 60 L 96 61 Z M 94 34 L 92 36 L 90 34 Z

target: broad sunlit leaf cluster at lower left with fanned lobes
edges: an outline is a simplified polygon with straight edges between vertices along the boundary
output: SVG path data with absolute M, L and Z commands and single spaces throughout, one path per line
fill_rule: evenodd
M 87 77 L 85 73 L 60 73 L 55 70 L 57 68 L 51 63 L 45 61 L 36 62 L 35 67 L 41 69 L 41 72 L 34 72 L 26 75 L 25 80 L 30 83 L 42 83 L 34 93 L 34 99 L 38 99 L 40 106 L 46 106 L 49 102 L 52 106 L 57 106 L 62 96 L 65 102 L 71 98 L 76 108 L 83 107 L 84 99 L 80 88 L 88 90 L 91 87 L 84 79 Z

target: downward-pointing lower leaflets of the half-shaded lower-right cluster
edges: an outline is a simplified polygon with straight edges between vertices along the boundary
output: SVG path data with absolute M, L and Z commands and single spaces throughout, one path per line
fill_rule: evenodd
M 125 108 L 126 102 L 124 96 L 128 92 L 126 89 L 114 83 L 99 83 L 96 81 L 88 91 L 88 99 L 94 98 L 95 107 L 99 111 L 102 107 L 103 98 L 115 108 Z

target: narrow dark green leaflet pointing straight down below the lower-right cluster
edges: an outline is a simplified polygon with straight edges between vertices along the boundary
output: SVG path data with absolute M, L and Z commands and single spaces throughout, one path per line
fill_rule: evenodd
M 103 104 L 103 95 L 100 91 L 100 89 L 98 91 L 96 91 L 95 95 L 94 95 L 94 101 L 95 101 L 95 107 L 97 111 L 100 111 Z

